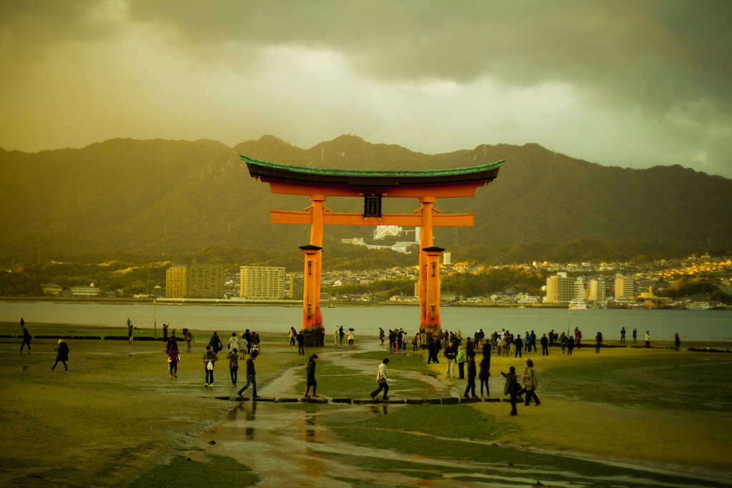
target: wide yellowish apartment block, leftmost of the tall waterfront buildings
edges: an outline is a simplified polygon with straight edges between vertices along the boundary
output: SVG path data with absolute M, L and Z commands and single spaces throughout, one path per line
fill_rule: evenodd
M 165 296 L 169 299 L 222 299 L 223 264 L 176 264 L 165 271 Z

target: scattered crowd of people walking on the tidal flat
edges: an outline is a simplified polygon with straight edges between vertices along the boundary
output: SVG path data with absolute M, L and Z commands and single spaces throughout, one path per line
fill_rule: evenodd
M 127 331 L 128 340 L 132 343 L 133 329 L 132 322 L 127 318 Z M 31 339 L 33 337 L 29 333 L 25 326 L 23 318 L 20 319 L 20 327 L 23 329 L 23 342 L 20 345 L 20 352 L 23 352 L 23 348 L 31 350 Z M 324 331 L 323 331 L 324 334 Z M 626 331 L 623 327 L 620 332 L 620 343 L 625 343 Z M 343 338 L 346 336 L 346 331 L 343 330 L 343 326 L 336 327 L 333 332 L 333 338 L 335 345 L 343 342 Z M 638 331 L 637 329 L 632 330 L 632 340 L 635 343 L 637 341 Z M 348 344 L 353 345 L 355 338 L 354 329 L 351 327 L 348 331 Z M 427 364 L 439 363 L 438 354 L 442 352 L 446 361 L 445 374 L 447 378 L 455 378 L 455 364 L 458 365 L 458 379 L 466 379 L 466 388 L 463 393 L 465 398 L 479 398 L 476 394 L 476 378 L 480 382 L 480 397 L 490 396 L 490 390 L 488 387 L 488 378 L 490 378 L 490 356 L 491 351 L 495 351 L 498 356 L 513 356 L 518 359 L 522 357 L 523 353 L 534 353 L 537 352 L 537 342 L 541 345 L 542 356 L 548 356 L 549 348 L 559 345 L 562 354 L 572 355 L 572 350 L 581 348 L 582 344 L 582 332 L 575 327 L 573 334 L 565 334 L 564 331 L 561 334 L 556 334 L 553 330 L 547 334 L 542 334 L 542 337 L 537 337 L 534 331 L 526 331 L 524 334 L 512 334 L 507 329 L 501 329 L 501 331 L 493 331 L 490 337 L 486 339 L 485 333 L 482 329 L 479 329 L 473 334 L 473 337 L 463 337 L 460 330 L 455 331 L 441 331 L 438 334 L 430 334 L 425 329 L 420 329 L 414 336 L 404 331 L 404 329 L 390 329 L 389 333 L 386 334 L 384 329 L 379 328 L 378 339 L 381 344 L 384 345 L 385 339 L 388 338 L 389 350 L 406 350 L 408 344 L 411 342 L 412 351 L 427 350 Z M 178 364 L 180 363 L 180 353 L 178 347 L 178 338 L 176 337 L 176 331 L 173 329 L 171 337 L 168 339 L 168 324 L 163 324 L 163 339 L 165 339 L 165 353 L 168 358 L 168 373 L 171 378 L 177 378 Z M 187 343 L 187 350 L 191 350 L 191 342 L 195 342 L 193 334 L 189 329 L 183 329 L 182 339 Z M 303 331 L 297 332 L 294 327 L 291 327 L 289 331 L 290 345 L 297 345 L 299 355 L 305 356 L 305 336 Z M 650 348 L 650 331 L 646 331 L 645 334 L 645 345 L 644 348 Z M 598 331 L 595 336 L 595 352 L 600 353 L 602 347 L 603 337 L 602 332 Z M 679 334 L 676 333 L 674 337 L 675 350 L 680 348 Z M 204 386 L 214 386 L 214 364 L 218 361 L 218 353 L 223 350 L 223 342 L 220 339 L 217 332 L 214 332 L 212 337 L 209 339 L 208 345 L 206 345 L 206 351 L 203 354 L 203 367 L 205 372 L 205 383 Z M 238 380 L 239 360 L 246 359 L 246 376 L 247 383 L 237 391 L 237 394 L 241 396 L 244 391 L 250 386 L 252 387 L 253 397 L 258 397 L 257 394 L 257 383 L 256 383 L 256 372 L 254 361 L 257 356 L 261 353 L 260 337 L 255 331 L 246 329 L 239 337 L 236 332 L 231 333 L 231 337 L 227 343 L 228 353 L 225 356 L 228 361 L 229 375 L 231 378 L 232 386 L 236 386 Z M 56 362 L 51 367 L 51 370 L 55 370 L 56 366 L 61 362 L 64 364 L 64 369 L 68 370 L 67 363 L 69 359 L 69 346 L 63 339 L 59 339 L 58 346 L 56 348 Z M 479 363 L 476 364 L 476 356 L 481 353 L 482 358 Z M 248 357 L 247 357 L 248 356 Z M 318 359 L 317 354 L 310 355 L 305 366 L 305 379 L 306 389 L 305 398 L 310 398 L 310 388 L 313 390 L 312 397 L 318 397 L 315 393 L 317 388 L 317 381 L 315 380 L 315 360 Z M 376 382 L 378 388 L 370 393 L 370 397 L 376 398 L 378 394 L 383 391 L 383 399 L 389 399 L 389 383 L 387 381 L 386 369 L 389 364 L 389 359 L 384 359 L 378 366 L 376 375 Z M 517 402 L 524 401 L 524 405 L 530 405 L 531 400 L 534 400 L 535 405 L 540 405 L 539 398 L 536 394 L 536 389 L 539 386 L 536 371 L 534 370 L 534 362 L 531 359 L 526 360 L 526 367 L 523 370 L 520 381 L 515 372 L 515 367 L 509 367 L 509 372 L 505 373 L 501 371 L 501 375 L 505 378 L 504 384 L 504 395 L 509 395 L 511 402 L 511 415 L 517 415 L 516 404 Z M 523 387 L 521 386 L 523 385 Z M 525 399 L 523 398 L 525 397 Z

